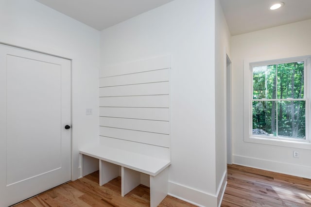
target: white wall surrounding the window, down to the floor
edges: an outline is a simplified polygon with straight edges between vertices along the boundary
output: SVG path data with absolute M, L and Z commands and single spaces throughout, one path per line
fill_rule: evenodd
M 233 162 L 311 178 L 311 150 L 243 142 L 243 60 L 311 55 L 311 19 L 233 36 Z M 293 158 L 293 151 L 300 158 Z

